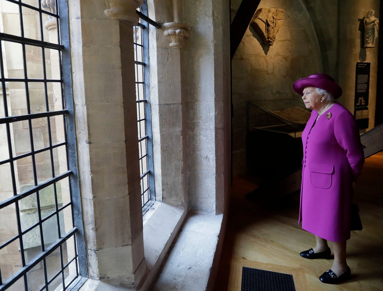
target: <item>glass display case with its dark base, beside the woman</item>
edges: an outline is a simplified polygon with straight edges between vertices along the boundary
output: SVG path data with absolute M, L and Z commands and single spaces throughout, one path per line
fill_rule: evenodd
M 311 112 L 294 99 L 248 103 L 248 172 L 277 181 L 302 167 L 301 135 Z

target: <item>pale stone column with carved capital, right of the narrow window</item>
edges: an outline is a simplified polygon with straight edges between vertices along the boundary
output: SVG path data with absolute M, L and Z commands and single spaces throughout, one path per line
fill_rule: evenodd
M 180 22 L 180 3 L 173 0 L 174 15 L 165 18 L 164 33 L 152 32 L 158 39 L 151 54 L 150 82 L 157 88 L 151 91 L 156 199 L 187 211 L 185 60 L 180 48 L 188 36 L 188 26 Z M 171 22 L 166 22 L 168 19 Z

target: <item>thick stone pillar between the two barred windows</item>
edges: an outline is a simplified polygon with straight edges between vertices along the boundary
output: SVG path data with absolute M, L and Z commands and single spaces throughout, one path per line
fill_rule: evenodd
M 81 290 L 135 289 L 146 272 L 132 27 L 142 2 L 68 2 L 90 278 Z

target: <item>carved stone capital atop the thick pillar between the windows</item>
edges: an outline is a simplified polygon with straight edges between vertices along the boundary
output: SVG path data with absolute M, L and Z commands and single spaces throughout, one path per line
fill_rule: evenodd
M 112 19 L 125 20 L 134 26 L 139 21 L 136 9 L 143 3 L 144 0 L 110 0 L 109 9 L 104 12 Z

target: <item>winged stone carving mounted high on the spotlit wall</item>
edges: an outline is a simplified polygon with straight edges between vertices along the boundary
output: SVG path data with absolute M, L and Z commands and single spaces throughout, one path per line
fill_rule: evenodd
M 274 44 L 277 32 L 285 19 L 285 10 L 279 8 L 259 8 L 250 25 L 268 46 Z

